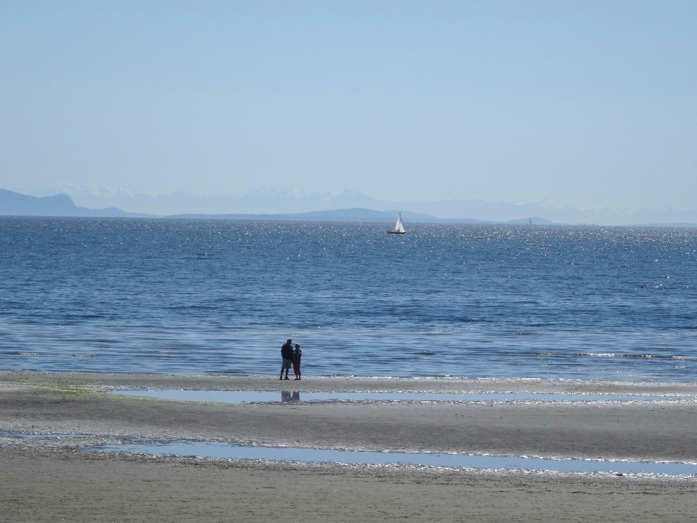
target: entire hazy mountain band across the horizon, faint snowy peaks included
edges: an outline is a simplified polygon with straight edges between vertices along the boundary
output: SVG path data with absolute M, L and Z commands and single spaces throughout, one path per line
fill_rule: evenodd
M 130 195 L 121 191 L 92 192 L 76 187 L 66 187 L 66 191 L 81 202 L 87 202 L 89 207 L 77 206 L 69 195 L 62 192 L 47 195 L 46 188 L 34 190 L 36 195 L 0 189 L 0 215 L 392 222 L 397 212 L 401 211 L 407 222 L 525 224 L 532 220 L 535 225 L 567 223 L 697 227 L 697 209 L 640 209 L 620 213 L 601 207 L 576 209 L 553 202 L 521 204 L 446 200 L 397 203 L 377 200 L 351 190 L 338 193 L 257 190 L 237 197 L 197 197 L 185 193 Z M 111 205 L 102 206 L 105 203 Z M 123 211 L 122 208 L 147 209 L 148 213 Z M 229 209 L 236 212 L 230 213 Z M 259 212 L 260 209 L 275 209 L 275 213 Z

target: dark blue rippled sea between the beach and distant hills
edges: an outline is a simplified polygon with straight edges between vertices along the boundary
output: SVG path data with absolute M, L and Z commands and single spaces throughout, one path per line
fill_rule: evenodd
M 692 381 L 697 229 L 0 218 L 0 370 Z

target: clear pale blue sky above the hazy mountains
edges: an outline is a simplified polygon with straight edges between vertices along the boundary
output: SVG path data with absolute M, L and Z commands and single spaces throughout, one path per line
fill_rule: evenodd
M 0 187 L 694 209 L 696 26 L 693 0 L 3 0 Z

